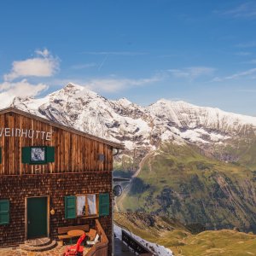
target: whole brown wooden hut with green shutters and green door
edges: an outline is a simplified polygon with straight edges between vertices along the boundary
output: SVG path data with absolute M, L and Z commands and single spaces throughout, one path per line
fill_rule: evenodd
M 16 108 L 0 110 L 0 247 L 101 225 L 112 253 L 113 148 Z

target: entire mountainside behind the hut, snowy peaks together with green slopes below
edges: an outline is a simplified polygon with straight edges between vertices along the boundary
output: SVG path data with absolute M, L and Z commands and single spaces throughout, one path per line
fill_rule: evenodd
M 124 143 L 114 173 L 131 181 L 120 212 L 177 219 L 192 233 L 256 232 L 255 117 L 164 99 L 142 107 L 71 83 L 11 105 Z

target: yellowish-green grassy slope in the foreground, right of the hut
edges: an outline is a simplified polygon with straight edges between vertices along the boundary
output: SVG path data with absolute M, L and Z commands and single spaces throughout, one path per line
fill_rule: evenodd
M 204 231 L 192 235 L 175 220 L 157 217 L 154 224 L 148 225 L 141 214 L 135 213 L 115 213 L 114 219 L 137 236 L 169 247 L 176 256 L 256 255 L 255 235 L 233 230 Z

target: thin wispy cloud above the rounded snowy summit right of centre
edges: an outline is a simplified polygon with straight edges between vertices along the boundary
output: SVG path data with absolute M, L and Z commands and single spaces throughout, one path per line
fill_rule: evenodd
M 167 72 L 172 73 L 176 78 L 196 79 L 201 76 L 209 76 L 215 71 L 212 67 L 185 67 L 182 69 L 169 69 Z

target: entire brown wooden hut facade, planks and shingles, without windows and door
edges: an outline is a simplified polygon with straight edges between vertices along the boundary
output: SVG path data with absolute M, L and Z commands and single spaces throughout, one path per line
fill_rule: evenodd
M 24 152 L 30 147 L 44 147 L 46 155 L 51 148 L 54 157 L 45 163 L 27 163 Z M 58 227 L 92 224 L 97 218 L 108 236 L 110 255 L 113 148 L 123 145 L 15 108 L 0 111 L 0 203 L 9 202 L 9 224 L 1 224 L 0 218 L 0 247 L 27 239 L 27 199 L 45 197 L 47 236 L 55 239 Z M 101 193 L 110 198 L 108 216 L 97 212 L 93 218 L 65 217 L 65 196 Z

